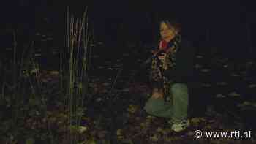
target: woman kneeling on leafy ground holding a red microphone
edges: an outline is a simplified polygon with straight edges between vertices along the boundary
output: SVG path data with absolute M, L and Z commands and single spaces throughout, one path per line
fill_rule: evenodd
M 181 132 L 189 126 L 189 83 L 193 76 L 195 50 L 181 37 L 181 27 L 170 20 L 159 23 L 159 48 L 153 52 L 150 79 L 151 98 L 147 113 L 170 118 L 171 129 Z

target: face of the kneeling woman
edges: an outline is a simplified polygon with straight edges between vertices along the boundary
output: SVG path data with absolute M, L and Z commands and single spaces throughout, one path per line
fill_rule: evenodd
M 167 23 L 162 22 L 160 23 L 160 35 L 162 39 L 170 41 L 170 39 L 173 39 L 173 37 L 175 36 L 175 31 L 174 29 L 171 29 L 171 27 L 168 26 Z

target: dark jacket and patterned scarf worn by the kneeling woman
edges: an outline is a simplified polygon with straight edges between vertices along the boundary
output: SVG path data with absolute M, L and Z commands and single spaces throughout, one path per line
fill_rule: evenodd
M 161 44 L 162 42 L 159 42 L 159 48 L 162 47 Z M 162 64 L 157 56 L 152 60 L 150 80 L 154 88 L 164 88 L 165 96 L 170 96 L 172 83 L 189 84 L 192 81 L 195 50 L 189 42 L 184 39 L 181 41 L 181 35 L 177 35 L 166 46 L 165 64 Z M 167 66 L 167 69 L 163 69 L 163 65 Z

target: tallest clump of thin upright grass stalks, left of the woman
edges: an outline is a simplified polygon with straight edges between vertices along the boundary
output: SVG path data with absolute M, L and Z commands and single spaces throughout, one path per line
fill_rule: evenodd
M 69 17 L 69 7 L 67 7 L 67 48 L 69 58 L 68 86 L 67 86 L 67 114 L 69 143 L 78 143 L 78 133 L 73 129 L 78 129 L 83 116 L 84 99 L 88 86 L 88 50 L 89 50 L 89 24 L 87 7 L 82 18 Z M 82 58 L 80 58 L 82 53 Z M 62 59 L 62 56 L 61 56 Z M 60 67 L 62 72 L 62 67 Z M 61 85 L 63 86 L 63 85 Z

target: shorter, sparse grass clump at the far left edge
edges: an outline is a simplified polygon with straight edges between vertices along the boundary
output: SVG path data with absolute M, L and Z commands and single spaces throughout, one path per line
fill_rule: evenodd
M 11 73 L 8 72 L 7 68 L 5 69 L 6 72 L 3 72 L 4 75 L 1 75 L 4 80 L 2 82 L 0 100 L 4 105 L 10 107 L 10 132 L 18 132 L 18 129 L 20 129 L 19 124 L 23 122 L 18 120 L 19 118 L 24 118 L 29 114 L 31 109 L 34 109 L 34 107 L 31 107 L 34 105 L 32 104 L 33 102 L 37 101 L 36 106 L 43 107 L 41 110 L 45 112 L 47 111 L 47 105 L 43 100 L 45 99 L 44 95 L 40 91 L 42 84 L 39 80 L 39 65 L 33 56 L 34 42 L 31 42 L 30 45 L 25 47 L 20 57 L 17 53 L 17 37 L 15 31 L 12 31 L 12 35 L 14 45 L 12 49 L 12 62 L 10 64 L 12 66 L 10 67 Z M 26 101 L 27 99 L 29 101 Z M 48 131 L 52 140 L 51 143 L 53 143 L 54 137 L 49 125 Z

